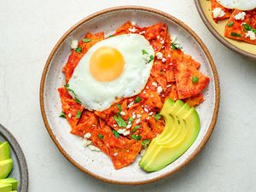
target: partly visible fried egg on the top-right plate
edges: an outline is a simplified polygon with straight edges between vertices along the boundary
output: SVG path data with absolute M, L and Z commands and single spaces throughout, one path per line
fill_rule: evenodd
M 252 10 L 256 8 L 255 0 L 218 0 L 218 3 L 227 9 Z

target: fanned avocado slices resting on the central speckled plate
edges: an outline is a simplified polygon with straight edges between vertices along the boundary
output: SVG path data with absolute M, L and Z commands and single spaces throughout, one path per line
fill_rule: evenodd
M 169 115 L 174 115 L 173 111 Z M 152 143 L 153 147 L 150 146 L 150 143 L 150 150 L 146 151 L 143 159 L 140 161 L 139 166 L 146 172 L 159 171 L 164 168 L 176 160 L 194 143 L 200 131 L 200 119 L 195 108 L 189 108 L 188 105 L 183 106 L 179 112 L 176 111 L 176 115 L 180 122 L 174 126 L 174 129 L 177 129 L 178 132 L 176 137 L 166 134 L 165 137 L 162 137 L 164 139 L 160 139 L 159 143 Z M 168 124 L 168 121 L 166 124 Z

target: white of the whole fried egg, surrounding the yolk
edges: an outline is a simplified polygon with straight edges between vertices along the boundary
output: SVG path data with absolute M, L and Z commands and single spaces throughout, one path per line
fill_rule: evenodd
M 97 81 L 90 74 L 90 57 L 102 46 L 118 49 L 125 60 L 123 73 L 110 82 Z M 137 95 L 147 83 L 153 66 L 153 61 L 145 61 L 143 49 L 148 55 L 154 55 L 148 40 L 139 34 L 124 34 L 98 42 L 79 61 L 68 82 L 69 88 L 85 108 L 96 111 L 110 108 L 118 98 Z M 70 94 L 73 95 L 72 92 Z

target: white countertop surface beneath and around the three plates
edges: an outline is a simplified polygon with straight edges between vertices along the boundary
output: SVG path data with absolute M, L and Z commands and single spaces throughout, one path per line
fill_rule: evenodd
M 218 122 L 206 147 L 171 177 L 142 186 L 96 180 L 69 163 L 51 141 L 39 108 L 44 63 L 76 22 L 98 10 L 143 5 L 183 20 L 204 41 L 218 67 Z M 202 22 L 193 0 L 0 1 L 0 123 L 26 156 L 30 192 L 256 191 L 256 61 L 220 44 Z

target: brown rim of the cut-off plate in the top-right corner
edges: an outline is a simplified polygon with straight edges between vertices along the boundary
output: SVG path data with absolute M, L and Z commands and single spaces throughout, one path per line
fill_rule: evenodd
M 230 48 L 231 50 L 234 50 L 236 53 L 244 55 L 246 57 L 249 57 L 253 60 L 256 60 L 256 55 L 248 53 L 247 51 L 243 50 L 243 49 L 239 49 L 238 47 L 236 47 L 233 44 L 230 44 L 227 40 L 224 39 L 224 37 L 219 34 L 215 28 L 211 25 L 211 23 L 209 22 L 209 20 L 207 20 L 207 16 L 204 14 L 204 11 L 201 7 L 201 3 L 200 0 L 195 0 L 195 7 L 197 9 L 197 11 L 199 12 L 199 15 L 201 17 L 201 20 L 203 20 L 203 22 L 205 23 L 205 25 L 207 26 L 208 30 L 210 32 L 212 32 L 212 35 L 218 39 L 218 41 L 222 44 L 224 44 L 227 48 Z

